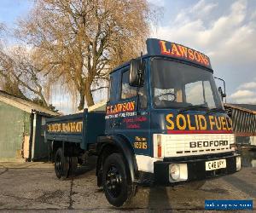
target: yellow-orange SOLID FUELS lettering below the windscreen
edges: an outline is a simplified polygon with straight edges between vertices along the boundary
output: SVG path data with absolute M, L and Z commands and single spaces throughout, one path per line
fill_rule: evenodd
M 231 119 L 224 116 L 166 115 L 166 130 L 216 130 L 231 132 Z

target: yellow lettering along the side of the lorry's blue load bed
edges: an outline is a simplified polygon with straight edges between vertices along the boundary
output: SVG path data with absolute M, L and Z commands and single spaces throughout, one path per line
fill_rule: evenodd
M 83 122 L 68 122 L 68 123 L 55 123 L 48 124 L 48 132 L 82 132 Z

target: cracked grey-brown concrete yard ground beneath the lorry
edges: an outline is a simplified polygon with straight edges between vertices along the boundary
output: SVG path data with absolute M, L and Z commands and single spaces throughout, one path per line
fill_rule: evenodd
M 95 160 L 91 158 L 90 164 L 80 167 L 67 181 L 55 177 L 53 164 L 0 163 L 0 211 L 201 212 L 205 211 L 205 199 L 253 199 L 256 212 L 253 167 L 207 181 L 200 190 L 185 186 L 139 188 L 131 204 L 117 209 L 108 204 L 102 189 L 96 186 Z

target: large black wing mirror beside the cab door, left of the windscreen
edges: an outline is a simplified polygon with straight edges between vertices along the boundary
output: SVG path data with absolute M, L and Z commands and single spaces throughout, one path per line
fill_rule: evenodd
M 129 84 L 132 87 L 142 87 L 144 83 L 145 60 L 132 59 L 130 65 Z

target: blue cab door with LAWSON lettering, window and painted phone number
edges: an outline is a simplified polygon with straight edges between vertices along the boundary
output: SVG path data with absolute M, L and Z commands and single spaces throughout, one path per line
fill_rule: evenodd
M 114 118 L 114 135 L 123 135 L 136 154 L 150 155 L 147 83 L 137 88 L 129 85 L 130 67 L 119 72 L 118 116 Z M 145 78 L 147 75 L 145 72 Z

